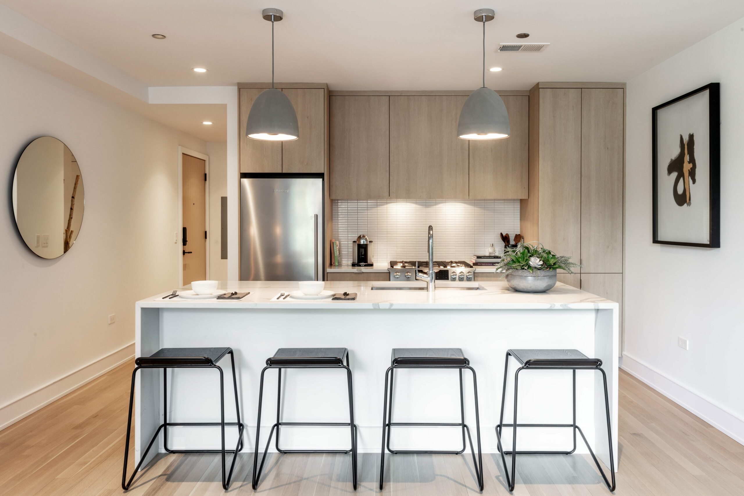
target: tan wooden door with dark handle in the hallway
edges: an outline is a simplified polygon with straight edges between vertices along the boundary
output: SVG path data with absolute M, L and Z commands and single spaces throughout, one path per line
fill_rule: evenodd
M 184 286 L 207 278 L 207 236 L 205 219 L 205 161 L 183 154 L 183 247 Z M 182 233 L 183 234 L 183 233 Z M 182 243 L 183 244 L 183 243 Z

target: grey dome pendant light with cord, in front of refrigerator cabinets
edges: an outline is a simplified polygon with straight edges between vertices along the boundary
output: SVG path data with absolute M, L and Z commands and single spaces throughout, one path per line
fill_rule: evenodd
M 246 136 L 254 140 L 292 141 L 299 135 L 297 114 L 289 97 L 274 88 L 274 23 L 283 19 L 279 9 L 263 9 L 261 16 L 272 22 L 272 87 L 256 97 L 248 113 Z

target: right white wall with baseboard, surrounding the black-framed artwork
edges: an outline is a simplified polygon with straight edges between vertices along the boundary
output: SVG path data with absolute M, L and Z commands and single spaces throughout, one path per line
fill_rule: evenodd
M 653 245 L 651 108 L 713 82 L 721 83 L 721 248 Z M 744 19 L 628 82 L 623 368 L 744 443 L 743 90 Z

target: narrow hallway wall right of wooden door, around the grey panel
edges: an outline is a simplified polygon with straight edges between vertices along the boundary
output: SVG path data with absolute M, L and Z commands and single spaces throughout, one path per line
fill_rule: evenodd
M 228 280 L 228 260 L 221 258 L 222 210 L 220 197 L 228 196 L 228 144 L 210 142 L 209 155 L 209 278 Z

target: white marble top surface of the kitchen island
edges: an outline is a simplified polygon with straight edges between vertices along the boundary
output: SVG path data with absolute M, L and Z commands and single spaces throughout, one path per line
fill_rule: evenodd
M 219 289 L 246 292 L 243 300 L 163 300 L 163 292 L 137 302 L 138 308 L 234 308 L 234 309 L 618 309 L 618 303 L 572 286 L 557 283 L 545 293 L 519 293 L 503 281 L 477 283 L 437 282 L 433 293 L 427 291 L 372 290 L 372 286 L 423 286 L 426 283 L 326 281 L 325 289 L 356 293 L 354 301 L 276 300 L 280 292 L 298 290 L 298 283 L 288 281 L 220 282 Z M 477 284 L 483 290 L 451 289 L 452 285 Z M 448 289 L 448 286 L 450 288 Z

